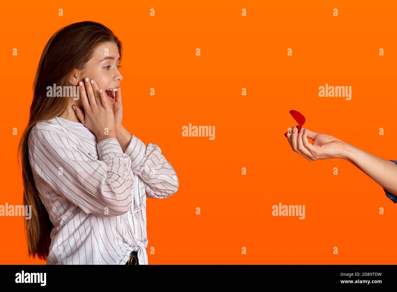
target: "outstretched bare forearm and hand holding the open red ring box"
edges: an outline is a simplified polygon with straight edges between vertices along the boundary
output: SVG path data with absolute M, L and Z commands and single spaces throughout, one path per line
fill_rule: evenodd
M 307 138 L 312 139 L 313 143 L 309 143 Z M 397 203 L 396 160 L 376 157 L 331 135 L 316 133 L 303 127 L 299 133 L 297 128 L 293 128 L 292 133 L 287 133 L 287 139 L 292 150 L 308 161 L 341 158 L 351 162 L 380 184 L 386 196 Z

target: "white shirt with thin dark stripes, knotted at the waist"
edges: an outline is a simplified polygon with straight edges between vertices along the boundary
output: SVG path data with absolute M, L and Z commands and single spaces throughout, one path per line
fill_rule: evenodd
M 29 161 L 54 226 L 47 265 L 125 265 L 131 251 L 148 264 L 146 197 L 179 188 L 160 147 L 131 135 L 123 153 L 117 139 L 96 143 L 57 117 L 33 126 Z

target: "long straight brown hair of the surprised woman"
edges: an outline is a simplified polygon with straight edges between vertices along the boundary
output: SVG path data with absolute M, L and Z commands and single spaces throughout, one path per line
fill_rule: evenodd
M 68 99 L 47 97 L 47 87 L 70 86 L 74 69 L 83 70 L 91 59 L 94 49 L 105 42 L 115 42 L 121 60 L 121 42 L 113 32 L 101 23 L 82 21 L 72 23 L 58 30 L 46 44 L 37 67 L 33 83 L 33 101 L 30 117 L 18 145 L 22 161 L 23 205 L 32 206 L 31 219 L 25 219 L 29 255 L 46 259 L 51 243 L 53 228 L 48 213 L 40 200 L 29 162 L 28 138 L 33 126 L 40 121 L 50 120 L 67 110 Z

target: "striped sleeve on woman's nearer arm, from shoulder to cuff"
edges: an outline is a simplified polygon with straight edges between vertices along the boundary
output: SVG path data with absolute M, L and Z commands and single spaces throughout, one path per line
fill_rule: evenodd
M 87 214 L 127 213 L 132 204 L 131 158 L 115 138 L 99 141 L 96 147 L 98 159 L 85 154 L 63 131 L 35 125 L 29 134 L 32 172 Z

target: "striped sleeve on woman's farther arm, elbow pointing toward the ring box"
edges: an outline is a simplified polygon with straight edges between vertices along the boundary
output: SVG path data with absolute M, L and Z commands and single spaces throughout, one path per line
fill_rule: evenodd
M 125 153 L 131 158 L 131 168 L 147 184 L 147 197 L 164 199 L 177 192 L 179 180 L 170 162 L 154 143 L 146 146 L 138 137 L 132 135 Z

